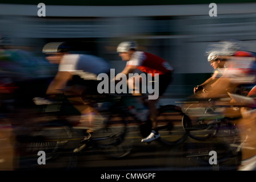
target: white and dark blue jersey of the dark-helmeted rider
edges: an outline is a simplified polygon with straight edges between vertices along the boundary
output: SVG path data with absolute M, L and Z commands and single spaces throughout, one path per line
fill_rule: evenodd
M 64 55 L 59 71 L 71 72 L 84 80 L 97 80 L 99 73 L 109 73 L 110 64 L 101 57 L 93 55 Z

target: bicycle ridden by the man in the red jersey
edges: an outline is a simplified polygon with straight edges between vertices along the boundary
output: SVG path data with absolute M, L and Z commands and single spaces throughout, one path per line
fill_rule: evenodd
M 111 135 L 113 143 L 99 144 L 99 142 L 105 142 L 110 138 L 94 138 L 93 135 L 95 133 L 93 133 L 89 134 L 89 140 L 82 142 L 82 145 L 75 150 L 78 152 L 83 150 L 85 146 L 97 146 L 98 148 L 103 148 L 105 152 L 110 156 L 114 156 L 114 158 L 122 158 L 130 154 L 133 149 L 133 140 L 138 138 L 138 133 L 142 137 L 146 137 L 151 132 L 151 122 L 148 120 L 145 122 L 140 121 L 128 109 L 127 100 L 133 102 L 131 101 L 132 99 L 140 98 L 141 96 L 134 97 L 129 94 L 115 94 L 114 100 L 117 101 L 116 104 L 111 105 L 109 109 L 105 110 L 105 113 L 107 111 L 111 115 L 106 119 L 105 126 L 97 131 L 98 135 L 105 133 L 105 131 L 116 131 L 117 133 Z M 161 138 L 157 139 L 157 142 L 167 146 L 177 146 L 185 142 L 187 133 L 181 125 L 182 117 L 186 116 L 182 112 L 181 107 L 175 105 L 159 106 L 157 122 Z M 119 125 L 119 131 L 117 131 L 117 127 L 114 127 L 115 125 Z M 122 129 L 120 130 L 120 128 Z M 134 136 L 134 134 L 137 134 L 137 136 Z

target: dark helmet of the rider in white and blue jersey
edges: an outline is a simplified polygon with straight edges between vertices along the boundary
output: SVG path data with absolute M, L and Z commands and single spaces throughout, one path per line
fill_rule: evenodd
M 68 52 L 70 49 L 66 42 L 50 42 L 43 47 L 43 53 Z

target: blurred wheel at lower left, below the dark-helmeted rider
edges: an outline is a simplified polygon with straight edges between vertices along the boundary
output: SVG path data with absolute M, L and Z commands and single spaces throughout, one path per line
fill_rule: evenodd
M 24 128 L 17 129 L 21 130 L 16 137 L 15 150 L 17 151 L 17 162 L 19 163 L 20 169 L 39 169 L 44 168 L 45 165 L 38 165 L 38 152 L 45 152 L 45 162 L 51 167 L 56 161 L 61 160 L 65 157 L 65 163 L 62 163 L 63 168 L 66 165 L 74 163 L 75 159 L 71 159 L 68 155 L 70 154 L 69 140 L 73 137 L 72 130 L 70 127 L 65 125 L 55 125 L 54 123 L 43 123 L 41 127 L 37 129 Z M 67 159 L 67 160 L 66 160 Z M 70 168 L 70 167 L 69 167 Z

